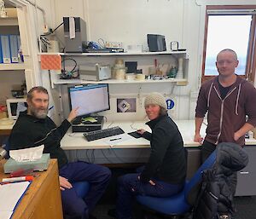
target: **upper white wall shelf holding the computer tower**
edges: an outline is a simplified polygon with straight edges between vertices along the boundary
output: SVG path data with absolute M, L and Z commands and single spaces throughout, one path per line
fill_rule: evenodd
M 143 52 L 143 53 L 39 53 L 38 55 L 63 56 L 114 56 L 114 55 L 186 55 L 187 51 Z

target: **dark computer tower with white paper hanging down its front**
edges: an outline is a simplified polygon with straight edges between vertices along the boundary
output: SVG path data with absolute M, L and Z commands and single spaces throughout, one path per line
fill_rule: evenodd
M 83 53 L 86 45 L 86 24 L 80 17 L 63 17 L 66 53 Z

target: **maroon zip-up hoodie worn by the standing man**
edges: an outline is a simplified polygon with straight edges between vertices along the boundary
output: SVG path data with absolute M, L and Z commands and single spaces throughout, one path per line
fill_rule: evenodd
M 219 142 L 234 142 L 243 146 L 245 138 L 237 141 L 234 134 L 246 123 L 256 126 L 256 89 L 245 79 L 237 77 L 236 83 L 224 100 L 220 97 L 218 77 L 201 85 L 195 109 L 196 118 L 204 118 L 207 114 L 206 141 L 217 145 Z

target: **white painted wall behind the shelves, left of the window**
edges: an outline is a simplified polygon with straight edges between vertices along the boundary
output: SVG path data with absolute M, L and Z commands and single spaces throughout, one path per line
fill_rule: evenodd
M 180 48 L 187 49 L 189 54 L 189 84 L 175 87 L 172 95 L 177 100 L 177 118 L 186 119 L 193 118 L 195 111 L 195 100 L 190 101 L 190 92 L 198 91 L 201 85 L 206 4 L 253 4 L 255 0 L 48 0 L 47 3 L 48 11 L 54 12 L 49 15 L 52 28 L 62 22 L 63 16 L 80 16 L 87 24 L 87 38 L 95 42 L 102 38 L 120 41 L 124 47 L 128 44 L 146 45 L 147 33 L 165 35 L 167 49 L 170 49 L 171 41 L 178 41 Z M 63 41 L 63 27 L 57 35 Z M 168 85 L 162 87 L 159 84 L 151 87 L 152 90 L 167 88 Z M 114 90 L 123 94 L 122 86 L 116 86 Z M 144 93 L 148 91 L 145 89 Z M 189 106 L 193 107 L 189 109 Z

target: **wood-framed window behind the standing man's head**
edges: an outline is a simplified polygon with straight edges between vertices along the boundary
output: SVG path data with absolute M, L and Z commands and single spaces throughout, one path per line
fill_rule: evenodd
M 255 77 L 255 6 L 207 6 L 202 81 L 218 75 L 216 55 L 222 49 L 236 51 L 236 74 L 253 81 Z

